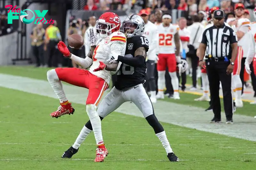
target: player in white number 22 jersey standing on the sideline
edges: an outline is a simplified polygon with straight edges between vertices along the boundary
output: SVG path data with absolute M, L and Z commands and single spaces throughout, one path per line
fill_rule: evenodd
M 182 70 L 180 59 L 180 35 L 179 26 L 171 24 L 172 17 L 170 14 L 164 14 L 163 23 L 157 28 L 159 33 L 159 48 L 158 48 L 158 93 L 157 99 L 164 99 L 164 86 L 165 86 L 165 70 L 168 67 L 169 75 L 171 77 L 173 88 L 173 99 L 180 99 L 179 94 L 179 80 L 176 73 L 176 66 L 178 63 L 179 71 Z

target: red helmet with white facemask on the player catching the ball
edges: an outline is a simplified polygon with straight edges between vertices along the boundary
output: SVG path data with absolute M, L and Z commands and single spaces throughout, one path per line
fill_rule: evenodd
M 96 21 L 96 30 L 102 38 L 119 30 L 121 21 L 114 12 L 105 12 Z

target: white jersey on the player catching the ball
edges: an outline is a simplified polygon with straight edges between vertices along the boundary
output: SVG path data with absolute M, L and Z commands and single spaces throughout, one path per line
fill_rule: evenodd
M 111 78 L 111 72 L 107 70 L 100 70 L 100 71 L 93 71 L 94 69 L 98 68 L 100 62 L 108 64 L 108 55 L 111 52 L 115 52 L 118 55 L 124 56 L 126 48 L 126 36 L 124 33 L 119 31 L 112 33 L 111 35 L 107 36 L 104 39 L 101 39 L 96 43 L 96 48 L 93 52 L 93 62 L 92 66 L 90 67 L 90 72 L 100 78 L 103 78 L 108 84 Z

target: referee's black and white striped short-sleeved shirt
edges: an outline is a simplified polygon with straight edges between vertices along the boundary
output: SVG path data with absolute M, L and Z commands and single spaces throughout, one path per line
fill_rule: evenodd
M 207 54 L 212 57 L 231 58 L 231 44 L 237 43 L 236 32 L 224 24 L 220 28 L 210 26 L 204 30 L 201 43 L 206 44 Z

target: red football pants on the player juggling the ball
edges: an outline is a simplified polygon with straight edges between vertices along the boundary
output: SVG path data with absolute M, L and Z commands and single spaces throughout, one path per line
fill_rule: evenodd
M 55 69 L 60 81 L 71 85 L 89 89 L 86 105 L 98 105 L 104 91 L 108 88 L 107 82 L 93 75 L 90 71 L 78 68 L 56 68 Z

